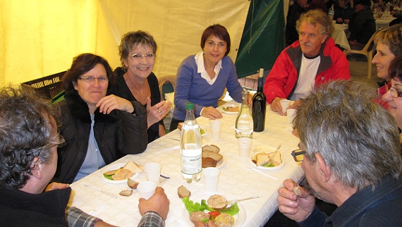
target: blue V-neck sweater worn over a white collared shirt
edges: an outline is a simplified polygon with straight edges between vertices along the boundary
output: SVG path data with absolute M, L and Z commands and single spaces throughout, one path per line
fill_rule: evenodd
M 236 66 L 229 56 L 225 56 L 222 59 L 222 68 L 213 85 L 209 85 L 201 77 L 201 73 L 197 73 L 197 64 L 194 57 L 195 55 L 191 55 L 184 59 L 177 71 L 173 118 L 180 121 L 184 121 L 185 104 L 188 102 L 193 102 L 194 104 L 195 117 L 200 116 L 200 112 L 204 107 L 217 107 L 225 87 L 233 99 L 241 102 L 243 88 L 238 82 Z

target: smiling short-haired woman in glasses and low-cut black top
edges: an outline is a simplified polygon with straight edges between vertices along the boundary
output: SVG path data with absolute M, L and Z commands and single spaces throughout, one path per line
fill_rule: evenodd
M 159 83 L 152 73 L 157 42 L 147 32 L 128 32 L 121 37 L 118 54 L 122 67 L 116 68 L 115 89 L 123 99 L 138 101 L 147 108 L 148 142 L 165 135 L 163 118 L 169 114 L 171 103 L 161 102 Z

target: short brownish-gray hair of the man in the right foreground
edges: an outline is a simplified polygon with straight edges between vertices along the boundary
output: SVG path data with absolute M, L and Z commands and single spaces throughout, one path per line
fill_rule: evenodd
M 396 122 L 375 99 L 364 82 L 329 82 L 303 100 L 293 122 L 305 158 L 315 163 L 320 154 L 343 185 L 358 190 L 402 170 Z

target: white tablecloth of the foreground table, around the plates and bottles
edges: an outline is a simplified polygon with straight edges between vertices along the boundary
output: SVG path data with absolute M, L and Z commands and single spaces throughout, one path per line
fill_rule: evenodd
M 265 130 L 262 133 L 253 134 L 252 150 L 257 148 L 264 149 L 266 146 L 276 147 L 279 144 L 282 145 L 279 151 L 285 161 L 284 166 L 274 171 L 262 170 L 263 173 L 273 177 L 270 178 L 261 173 L 248 170 L 251 164 L 238 157 L 238 143 L 234 133 L 236 114 L 223 113 L 223 116 L 224 118 L 221 119 L 223 122 L 221 139 L 219 141 L 211 140 L 208 132 L 209 119 L 197 118 L 197 123 L 202 128 L 207 129 L 207 133 L 202 137 L 203 145 L 217 145 L 221 149 L 220 153 L 224 156 L 223 166 L 220 167 L 221 175 L 217 194 L 225 195 L 229 199 L 261 195 L 260 198 L 240 202 L 240 211 L 244 211 L 244 214 L 242 217 L 239 214 L 238 218 L 244 219 L 240 226 L 264 226 L 264 223 L 269 220 L 278 207 L 276 202 L 277 190 L 281 187 L 283 180 L 291 178 L 299 182 L 304 176 L 303 169 L 291 157 L 291 151 L 298 147 L 299 140 L 291 134 L 291 125 L 288 124 L 286 116 L 279 116 L 267 106 Z M 142 165 L 149 162 L 157 162 L 162 165 L 162 174 L 171 177 L 160 184 L 170 200 L 166 226 L 176 227 L 189 226 L 183 219 L 183 214 L 186 211 L 177 194 L 177 189 L 180 185 L 185 185 L 191 191 L 190 200 L 200 202 L 202 199 L 207 200 L 209 197 L 204 192 L 202 178 L 200 182 L 190 184 L 182 180 L 179 138 L 180 132 L 174 130 L 164 137 L 151 142 L 142 154 L 127 155 L 113 163 L 125 163 L 131 160 Z M 247 168 L 243 165 L 246 165 Z M 83 211 L 116 226 L 137 226 L 140 220 L 138 212 L 139 192 L 134 190 L 133 195 L 130 197 L 118 195 L 121 190 L 128 190 L 128 185 L 126 183 L 107 183 L 102 176 L 106 168 L 107 166 L 71 184 L 73 193 L 69 205 L 83 209 Z M 277 178 L 277 180 L 274 178 Z M 133 179 L 142 182 L 146 178 L 144 173 L 140 173 Z M 109 192 L 116 198 L 87 188 L 84 186 L 85 183 Z

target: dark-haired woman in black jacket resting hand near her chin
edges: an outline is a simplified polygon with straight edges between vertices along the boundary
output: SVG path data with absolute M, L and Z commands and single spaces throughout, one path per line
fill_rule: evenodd
M 56 177 L 73 183 L 126 154 L 147 148 L 147 111 L 140 102 L 110 94 L 115 81 L 109 63 L 95 54 L 80 54 L 63 75 Z

